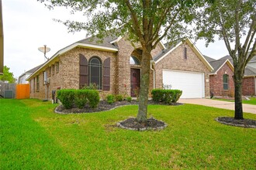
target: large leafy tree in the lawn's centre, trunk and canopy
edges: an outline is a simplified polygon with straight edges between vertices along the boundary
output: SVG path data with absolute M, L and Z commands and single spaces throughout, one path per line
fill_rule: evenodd
M 69 31 L 85 29 L 98 38 L 115 34 L 139 42 L 142 49 L 140 97 L 137 121 L 147 120 L 150 52 L 161 39 L 171 42 L 186 36 L 185 23 L 192 20 L 196 0 L 38 0 L 49 8 L 65 6 L 83 12 L 85 22 L 64 21 Z

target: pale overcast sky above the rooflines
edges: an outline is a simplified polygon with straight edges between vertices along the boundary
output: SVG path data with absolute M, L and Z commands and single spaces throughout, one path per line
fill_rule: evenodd
M 44 62 L 43 53 L 38 47 L 47 45 L 53 56 L 58 50 L 85 39 L 86 32 L 68 33 L 67 27 L 53 19 L 73 19 L 81 21 L 81 15 L 70 15 L 66 8 L 49 10 L 36 0 L 2 0 L 4 29 L 4 65 L 10 67 L 17 78 L 24 71 Z M 223 42 L 209 44 L 196 42 L 199 51 L 214 59 L 226 56 L 227 49 Z

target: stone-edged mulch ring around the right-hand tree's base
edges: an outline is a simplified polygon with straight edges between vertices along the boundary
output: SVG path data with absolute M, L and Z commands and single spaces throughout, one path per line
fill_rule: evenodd
M 256 120 L 243 119 L 237 120 L 234 117 L 217 117 L 216 121 L 221 124 L 227 124 L 231 126 L 243 127 L 243 128 L 256 128 Z

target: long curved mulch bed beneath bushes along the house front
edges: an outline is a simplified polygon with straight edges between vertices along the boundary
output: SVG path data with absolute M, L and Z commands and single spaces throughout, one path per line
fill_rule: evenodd
M 131 102 L 128 102 L 127 100 L 123 101 L 116 101 L 113 104 L 109 104 L 106 102 L 106 100 L 101 100 L 99 101 L 99 105 L 96 108 L 91 108 L 87 105 L 85 105 L 84 108 L 79 109 L 78 107 L 74 107 L 71 109 L 65 109 L 63 105 L 60 105 L 56 107 L 55 112 L 57 114 L 79 114 L 79 113 L 93 113 L 93 112 L 99 112 L 99 111 L 106 111 L 106 110 L 112 110 L 113 108 L 124 106 L 124 105 L 137 105 L 139 102 L 137 100 L 132 100 Z M 153 100 L 148 100 L 148 104 L 161 104 L 161 105 L 182 105 L 180 103 L 175 103 L 175 104 L 164 104 L 164 103 L 157 103 L 154 102 Z

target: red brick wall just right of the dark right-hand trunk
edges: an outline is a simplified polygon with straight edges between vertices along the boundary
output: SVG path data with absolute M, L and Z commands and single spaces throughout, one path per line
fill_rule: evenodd
M 243 95 L 251 96 L 255 94 L 255 77 L 245 77 L 242 85 Z

